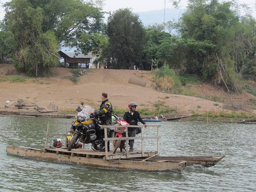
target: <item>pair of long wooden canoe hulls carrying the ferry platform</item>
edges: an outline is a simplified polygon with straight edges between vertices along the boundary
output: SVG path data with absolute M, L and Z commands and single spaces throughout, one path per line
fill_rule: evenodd
M 182 172 L 185 170 L 186 166 L 193 164 L 206 167 L 214 166 L 224 157 L 162 157 L 155 156 L 157 155 L 156 152 L 144 152 L 143 157 L 141 157 L 140 151 L 134 151 L 129 154 L 130 158 L 125 158 L 125 153 L 116 152 L 115 154 L 112 154 L 110 152 L 107 160 L 105 158 L 105 152 L 95 152 L 86 149 L 67 151 L 67 149 L 64 148 L 46 148 L 45 150 L 41 150 L 15 146 L 7 146 L 6 152 L 8 155 L 15 155 L 28 159 L 104 169 L 175 172 Z M 110 157 L 112 157 L 112 159 Z

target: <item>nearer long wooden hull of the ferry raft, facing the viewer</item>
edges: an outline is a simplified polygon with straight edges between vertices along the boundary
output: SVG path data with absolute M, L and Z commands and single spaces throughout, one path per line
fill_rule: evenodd
M 73 164 L 79 166 L 97 167 L 103 169 L 121 169 L 121 170 L 137 170 L 137 171 L 173 171 L 182 172 L 186 167 L 186 162 L 152 162 L 152 161 L 134 161 L 104 158 L 88 158 L 72 155 L 63 155 L 51 152 L 44 152 L 40 149 L 20 148 L 7 146 L 8 155 L 18 157 L 50 161 L 55 163 Z

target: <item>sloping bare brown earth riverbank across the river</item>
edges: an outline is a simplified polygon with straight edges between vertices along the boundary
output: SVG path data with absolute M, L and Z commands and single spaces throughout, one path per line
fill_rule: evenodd
M 155 89 L 154 80 L 147 78 L 150 72 L 135 70 L 86 69 L 86 73 L 73 82 L 69 78 L 73 75 L 72 70 L 56 67 L 51 77 L 29 78 L 17 73 L 13 65 L 1 64 L 0 111 L 6 110 L 4 106 L 7 100 L 12 100 L 12 105 L 7 111 L 12 111 L 14 114 L 16 112 L 36 113 L 34 107 L 25 107 L 22 110 L 14 107 L 18 99 L 23 99 L 27 103 L 45 108 L 54 103 L 59 112 L 51 114 L 76 114 L 75 108 L 81 101 L 98 109 L 101 104 L 101 93 L 106 92 L 114 107 L 114 113 L 120 114 L 128 110 L 130 101 L 138 104 L 137 110 L 144 116 L 158 113 L 190 114 L 207 111 L 220 113 L 232 110 L 256 114 L 256 110 L 252 109 L 256 97 L 249 93 L 226 95 L 217 87 L 201 82 L 196 85 L 191 84 L 190 87 L 196 93 L 202 93 L 201 95 L 190 94 L 190 92 L 189 95 L 195 96 L 161 93 Z M 131 84 L 129 79 L 143 81 L 146 86 Z M 188 85 L 190 85 L 189 82 L 186 86 Z M 219 98 L 227 98 L 230 102 L 224 103 Z M 40 113 L 37 115 L 44 116 Z

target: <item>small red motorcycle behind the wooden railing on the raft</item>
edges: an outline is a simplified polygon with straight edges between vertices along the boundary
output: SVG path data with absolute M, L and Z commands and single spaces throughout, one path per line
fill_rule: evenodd
M 124 119 L 118 119 L 118 120 L 114 120 L 114 121 L 121 126 L 130 125 Z M 111 130 L 115 132 L 115 135 L 114 135 L 115 138 L 121 138 L 121 137 L 125 137 L 126 128 L 127 127 L 115 127 Z M 122 152 L 122 150 L 126 151 L 125 140 L 114 140 L 113 146 L 114 146 L 113 153 L 115 153 L 118 148 L 120 148 L 121 152 Z

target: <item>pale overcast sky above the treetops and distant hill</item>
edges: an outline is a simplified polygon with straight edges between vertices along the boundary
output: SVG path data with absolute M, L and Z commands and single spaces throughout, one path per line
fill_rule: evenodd
M 0 0 L 0 20 L 4 17 L 3 3 L 9 0 Z M 253 15 L 256 18 L 256 0 L 237 0 L 239 3 L 246 3 L 253 8 Z M 119 8 L 132 8 L 134 12 L 145 12 L 163 9 L 164 0 L 105 0 L 103 11 L 114 11 Z M 185 8 L 187 0 L 181 0 L 181 8 Z M 166 0 L 167 8 L 174 8 L 169 0 Z

